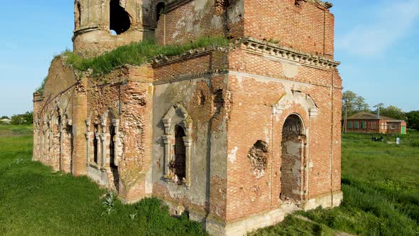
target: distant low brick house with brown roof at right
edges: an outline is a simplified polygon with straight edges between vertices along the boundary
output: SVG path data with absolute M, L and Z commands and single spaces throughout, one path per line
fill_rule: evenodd
M 378 114 L 360 112 L 347 118 L 347 132 L 406 134 L 404 120 L 383 117 Z

